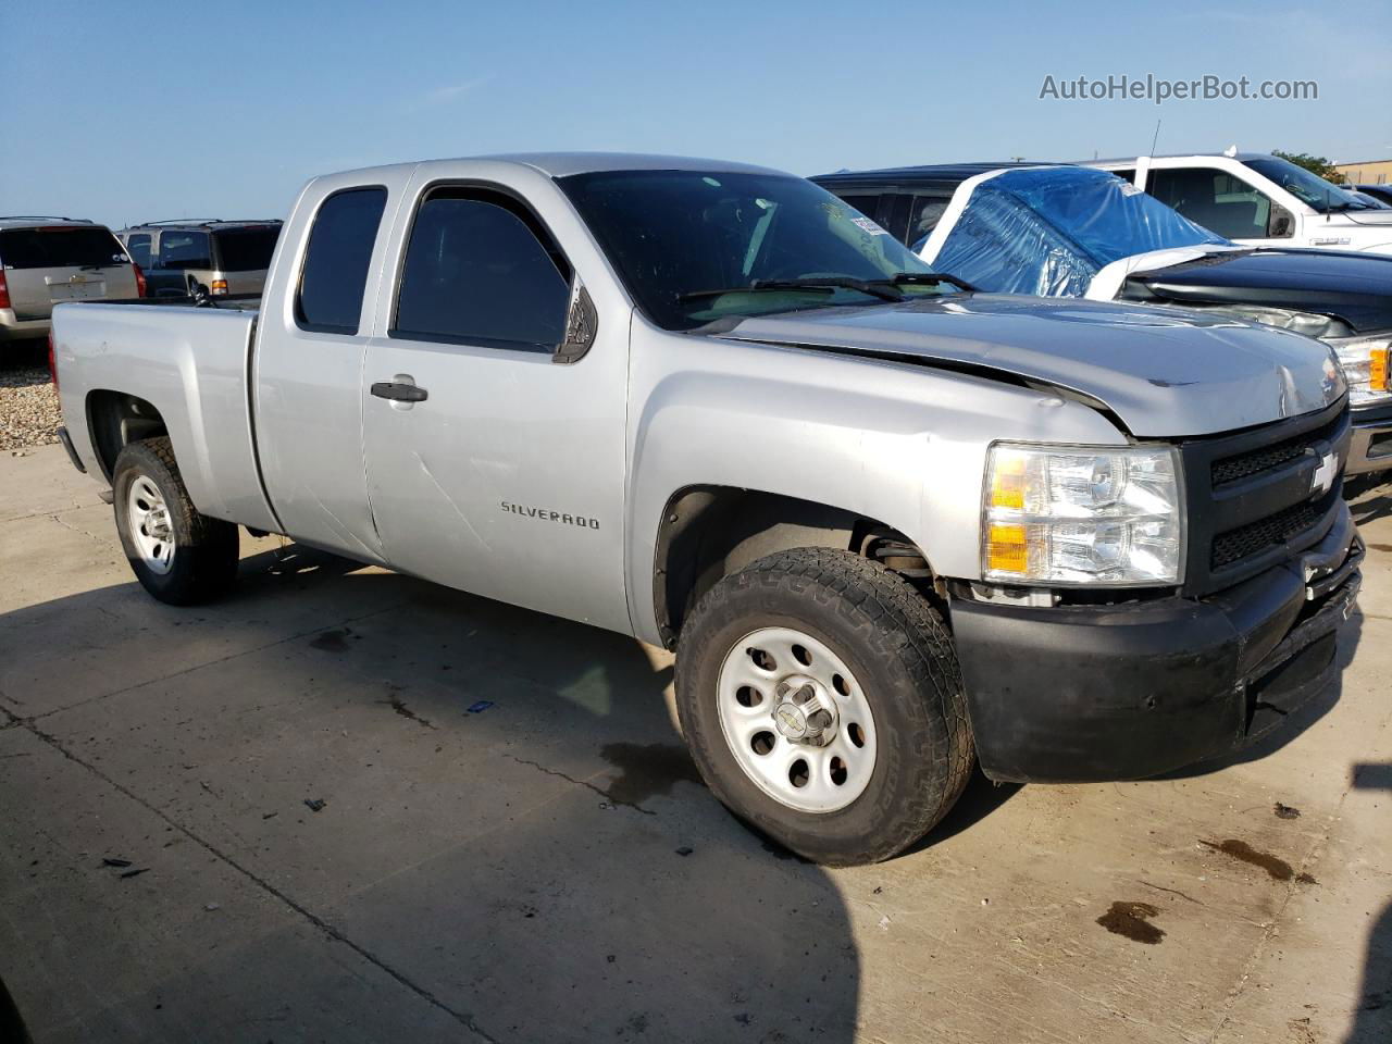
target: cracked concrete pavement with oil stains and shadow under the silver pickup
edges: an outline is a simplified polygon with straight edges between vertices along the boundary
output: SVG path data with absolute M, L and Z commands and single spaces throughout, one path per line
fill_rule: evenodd
M 280 540 L 174 610 L 96 493 L 0 457 L 0 977 L 38 1041 L 1392 1040 L 1385 498 L 1342 682 L 1260 749 L 977 778 L 827 871 L 699 784 L 665 653 Z

